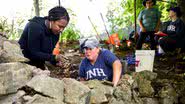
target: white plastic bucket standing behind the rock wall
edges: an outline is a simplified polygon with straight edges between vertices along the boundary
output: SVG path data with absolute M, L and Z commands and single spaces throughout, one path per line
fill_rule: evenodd
M 136 72 L 143 70 L 153 71 L 155 50 L 136 50 Z

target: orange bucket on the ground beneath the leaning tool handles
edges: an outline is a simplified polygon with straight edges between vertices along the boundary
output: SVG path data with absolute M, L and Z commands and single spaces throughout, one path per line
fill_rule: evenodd
M 112 34 L 109 39 L 107 40 L 108 44 L 113 44 L 113 45 L 120 45 L 120 40 L 119 40 L 119 36 L 117 33 Z

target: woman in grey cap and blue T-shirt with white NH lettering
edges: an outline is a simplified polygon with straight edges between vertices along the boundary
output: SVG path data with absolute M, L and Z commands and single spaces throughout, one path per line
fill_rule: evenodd
M 98 47 L 96 39 L 87 39 L 81 44 L 85 58 L 79 67 L 80 81 L 108 80 L 116 86 L 122 72 L 120 60 L 109 50 Z

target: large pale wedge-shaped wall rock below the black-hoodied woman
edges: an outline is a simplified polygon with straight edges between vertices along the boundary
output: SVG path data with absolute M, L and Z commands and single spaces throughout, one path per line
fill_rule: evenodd
M 40 75 L 33 77 L 26 85 L 44 96 L 63 101 L 64 85 L 59 79 Z

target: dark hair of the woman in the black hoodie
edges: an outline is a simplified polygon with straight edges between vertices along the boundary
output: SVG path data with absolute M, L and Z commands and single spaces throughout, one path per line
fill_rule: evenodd
M 69 14 L 64 7 L 56 6 L 49 10 L 48 12 L 49 21 L 57 21 L 60 19 L 66 19 L 68 22 L 70 20 Z

